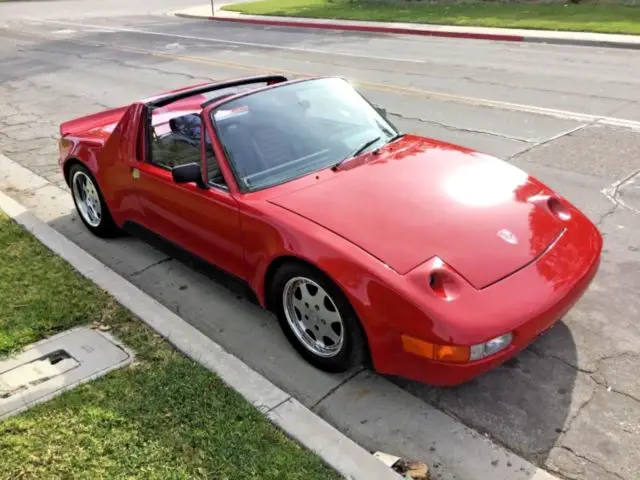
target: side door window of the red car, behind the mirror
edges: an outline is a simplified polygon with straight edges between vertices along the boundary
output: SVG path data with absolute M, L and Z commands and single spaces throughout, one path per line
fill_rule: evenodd
M 153 126 L 151 161 L 172 169 L 187 163 L 200 163 L 200 115 L 191 113 Z

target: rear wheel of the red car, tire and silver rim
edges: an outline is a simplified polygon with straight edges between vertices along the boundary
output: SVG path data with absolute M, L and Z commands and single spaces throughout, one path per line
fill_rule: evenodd
M 118 236 L 121 231 L 113 221 L 109 207 L 91 172 L 83 165 L 73 165 L 69 172 L 69 180 L 73 203 L 82 223 L 98 237 Z

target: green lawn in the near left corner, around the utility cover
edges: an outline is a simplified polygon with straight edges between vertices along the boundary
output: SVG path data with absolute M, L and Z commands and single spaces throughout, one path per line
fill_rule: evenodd
M 99 321 L 136 363 L 0 422 L 2 479 L 337 479 L 215 375 L 0 215 L 0 355 Z

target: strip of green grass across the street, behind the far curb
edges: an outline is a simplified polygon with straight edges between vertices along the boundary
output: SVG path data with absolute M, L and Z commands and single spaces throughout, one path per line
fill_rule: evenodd
M 264 0 L 230 5 L 224 10 L 253 15 L 640 34 L 640 7 L 616 4 Z

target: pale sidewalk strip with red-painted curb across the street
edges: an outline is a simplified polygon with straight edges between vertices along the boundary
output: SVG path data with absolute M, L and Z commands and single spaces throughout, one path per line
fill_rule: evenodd
M 298 27 L 319 30 L 420 35 L 471 40 L 493 40 L 500 42 L 547 43 L 552 45 L 640 49 L 640 35 L 245 15 L 238 12 L 222 10 L 222 7 L 224 6 L 224 4 L 215 5 L 213 14 L 211 5 L 202 5 L 183 10 L 176 10 L 169 12 L 169 14 L 183 18 L 199 18 L 218 22 L 233 22 L 274 27 Z

